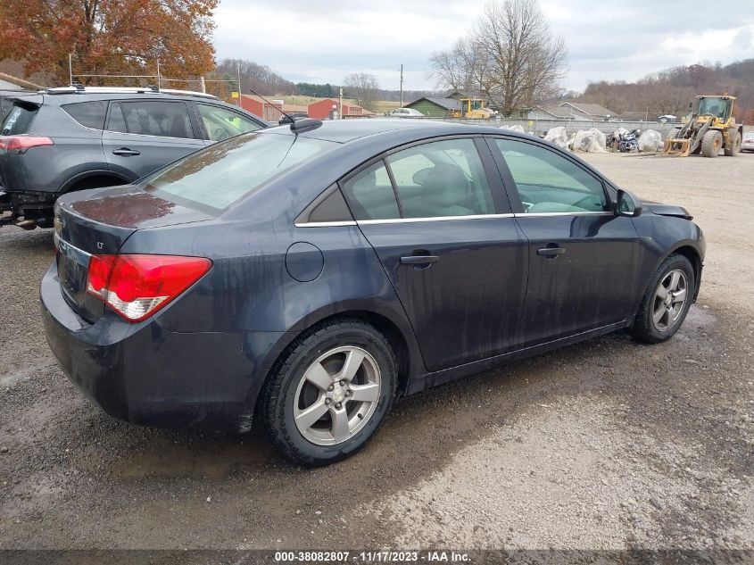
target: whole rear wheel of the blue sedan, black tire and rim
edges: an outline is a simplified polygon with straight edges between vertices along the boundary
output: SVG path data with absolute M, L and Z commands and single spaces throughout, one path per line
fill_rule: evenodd
M 286 458 L 328 465 L 374 436 L 396 382 L 394 352 L 376 328 L 356 319 L 327 321 L 297 337 L 271 370 L 262 421 Z

